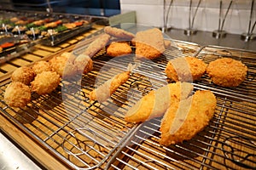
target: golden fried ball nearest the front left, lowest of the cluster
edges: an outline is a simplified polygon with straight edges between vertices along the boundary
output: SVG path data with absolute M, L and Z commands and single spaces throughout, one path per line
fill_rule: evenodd
M 11 107 L 24 107 L 31 100 L 31 89 L 22 82 L 11 82 L 5 89 L 4 100 Z

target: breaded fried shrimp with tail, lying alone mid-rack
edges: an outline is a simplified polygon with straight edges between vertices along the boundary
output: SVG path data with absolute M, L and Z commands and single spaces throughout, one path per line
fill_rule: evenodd
M 119 73 L 113 78 L 104 82 L 101 86 L 94 89 L 89 94 L 90 100 L 97 100 L 102 103 L 106 101 L 116 90 L 124 84 L 130 77 L 131 71 L 133 70 L 133 65 L 129 64 L 128 69 L 125 72 Z

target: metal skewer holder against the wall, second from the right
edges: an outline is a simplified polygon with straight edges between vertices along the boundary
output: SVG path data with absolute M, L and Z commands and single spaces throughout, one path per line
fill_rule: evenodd
M 223 38 L 226 37 L 227 32 L 223 30 L 224 28 L 224 22 L 227 18 L 227 15 L 229 14 L 230 7 L 232 5 L 233 1 L 230 1 L 229 7 L 226 10 L 226 13 L 224 15 L 224 18 L 222 18 L 222 1 L 219 1 L 219 15 L 218 15 L 218 30 L 212 32 L 212 37 L 215 38 Z

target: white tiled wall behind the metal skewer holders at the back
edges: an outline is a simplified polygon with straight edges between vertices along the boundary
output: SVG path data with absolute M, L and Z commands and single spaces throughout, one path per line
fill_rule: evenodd
M 169 4 L 171 0 L 166 0 Z M 192 14 L 199 0 L 193 0 Z M 148 26 L 164 26 L 164 0 L 120 0 L 122 10 L 135 10 L 137 23 Z M 252 0 L 235 0 L 224 23 L 224 30 L 230 33 L 241 34 L 247 32 Z M 223 16 L 230 0 L 223 0 Z M 166 7 L 167 8 L 167 7 Z M 202 0 L 195 16 L 194 28 L 201 31 L 218 29 L 218 0 Z M 253 22 L 256 20 L 256 4 L 253 8 Z M 174 0 L 170 10 L 168 27 L 186 29 L 189 27 L 189 0 Z M 256 32 L 256 28 L 253 32 Z

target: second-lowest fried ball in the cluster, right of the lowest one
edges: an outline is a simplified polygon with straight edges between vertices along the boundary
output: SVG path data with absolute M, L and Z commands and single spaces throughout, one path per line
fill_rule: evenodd
M 43 71 L 31 82 L 32 91 L 37 94 L 49 94 L 58 87 L 61 82 L 60 75 L 52 71 Z

